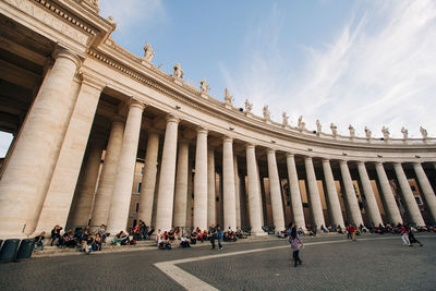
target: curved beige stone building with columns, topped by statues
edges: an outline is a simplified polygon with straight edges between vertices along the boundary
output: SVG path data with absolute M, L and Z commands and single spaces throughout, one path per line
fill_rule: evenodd
M 301 119 L 290 126 L 286 114 L 272 121 L 267 107 L 257 117 L 228 90 L 220 101 L 204 80 L 185 84 L 180 64 L 159 70 L 149 45 L 143 57 L 121 48 L 98 11 L 96 0 L 0 2 L 0 130 L 14 135 L 0 171 L 0 238 L 66 223 L 116 233 L 133 219 L 258 235 L 291 220 L 436 220 L 436 140 L 424 129 L 423 138 L 341 136 L 334 124 L 327 133 Z

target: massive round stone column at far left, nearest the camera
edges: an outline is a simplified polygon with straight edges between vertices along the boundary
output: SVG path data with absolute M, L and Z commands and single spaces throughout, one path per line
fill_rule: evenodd
M 80 60 L 64 49 L 57 50 L 53 58 L 53 68 L 27 113 L 0 181 L 0 237 L 3 239 L 24 237 L 29 210 L 43 206 L 46 189 L 41 189 L 41 183 L 50 179 L 58 158 L 52 153 L 64 134 L 60 124 L 71 117 L 70 87 Z M 37 221 L 32 222 L 35 226 Z

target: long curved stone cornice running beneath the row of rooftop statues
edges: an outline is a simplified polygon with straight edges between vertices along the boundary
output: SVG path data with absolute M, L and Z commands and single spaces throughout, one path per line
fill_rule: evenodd
M 100 51 L 100 49 L 105 52 Z M 214 98 L 203 98 L 201 93 L 195 88 L 182 83 L 173 82 L 173 77 L 152 66 L 144 66 L 141 64 L 141 58 L 130 53 L 128 50 L 119 47 L 113 40 L 108 39 L 106 46 L 97 49 L 89 49 L 88 54 L 96 60 L 99 60 L 112 69 L 128 75 L 129 77 L 140 82 L 153 89 L 156 89 L 175 100 L 181 105 L 189 105 L 190 107 L 207 112 L 207 114 L 215 116 L 221 120 L 226 120 L 237 128 L 233 133 L 244 136 L 238 132 L 238 128 L 256 131 L 262 135 L 270 136 L 274 140 L 281 138 L 294 143 L 301 143 L 313 147 L 328 147 L 340 150 L 363 150 L 363 151 L 404 151 L 404 150 L 425 150 L 436 149 L 435 138 L 417 140 L 409 138 L 398 140 L 390 138 L 389 141 L 380 141 L 380 138 L 365 138 L 365 137 L 349 137 L 336 135 L 332 136 L 327 133 L 322 133 L 320 136 L 311 131 L 299 131 L 292 126 L 283 126 L 277 122 L 265 122 L 261 117 L 251 114 L 247 117 L 245 112 L 241 112 L 238 108 L 231 106 L 226 107 L 223 102 Z M 112 56 L 114 54 L 114 56 Z M 128 61 L 125 60 L 128 58 Z M 135 69 L 132 69 L 135 66 Z M 237 135 L 237 136 L 238 136 Z M 241 138 L 244 140 L 244 138 Z M 249 137 L 247 140 L 253 140 Z M 263 142 L 262 144 L 265 144 Z

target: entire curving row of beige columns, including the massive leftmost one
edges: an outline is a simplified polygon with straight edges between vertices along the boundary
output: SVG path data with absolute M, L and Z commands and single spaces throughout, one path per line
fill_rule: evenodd
M 304 159 L 303 174 L 307 185 L 310 220 L 317 228 L 326 225 L 326 217 L 323 213 L 314 160 L 322 161 L 329 221 L 332 225 L 343 227 L 346 221 L 363 223 L 350 163 L 356 165 L 368 221 L 375 226 L 384 223 L 366 168 L 368 163 L 374 163 L 387 220 L 403 222 L 383 162 L 337 157 L 329 159 L 327 155 L 317 157 L 293 153 L 282 147 L 256 145 L 244 141 L 246 137 L 238 134 L 221 134 L 220 145 L 216 147 L 208 143 L 208 129 L 196 126 L 195 174 L 192 181 L 192 141 L 179 136 L 180 117 L 167 113 L 165 133 L 161 136 L 157 129 L 144 124 L 143 116 L 147 116 L 146 105 L 134 97 L 125 102 L 126 114 L 118 112 L 112 116 L 108 138 L 96 138 L 90 129 L 105 87 L 104 83 L 85 73 L 81 80 L 76 80 L 74 75 L 81 61 L 74 53 L 60 49 L 55 52 L 53 58 L 55 64 L 45 77 L 0 181 L 0 231 L 3 237 L 48 231 L 53 225 L 65 223 L 68 217 L 71 225 L 85 225 L 90 218 L 90 225 L 105 223 L 110 233 L 125 230 L 143 125 L 147 128 L 147 145 L 137 218 L 147 225 L 154 223 L 157 229 L 169 230 L 172 227 L 190 226 L 206 229 L 218 222 L 215 165 L 217 148 L 222 149 L 222 211 L 219 215 L 223 218 L 225 229 L 241 227 L 243 216 L 247 216 L 252 233 L 265 233 L 262 227 L 265 225 L 266 202 L 263 197 L 264 183 L 259 175 L 259 156 L 256 156 L 256 148 L 257 154 L 265 153 L 262 156 L 266 156 L 267 169 L 263 172 L 268 173 L 268 193 L 276 231 L 284 230 L 286 223 L 289 222 L 284 219 L 286 202 L 281 185 L 283 175 L 279 173 L 278 163 L 284 163 L 287 169 L 284 177 L 289 185 L 292 221 L 304 228 L 308 220 L 304 215 L 299 185 L 299 173 L 302 174 L 302 171 L 298 171 L 295 155 Z M 216 136 L 217 133 L 214 134 Z M 237 140 L 239 144 L 245 144 L 244 154 L 239 154 L 245 157 L 244 167 L 241 167 L 242 159 L 234 154 Z M 160 145 L 162 148 L 159 148 Z M 81 170 L 85 149 L 87 154 Z M 105 149 L 105 159 L 98 175 L 101 153 Z M 38 153 L 37 157 L 35 153 Z M 286 159 L 280 159 L 278 154 L 280 157 L 284 155 Z M 342 214 L 340 193 L 331 168 L 332 160 L 339 161 L 347 217 Z M 393 165 L 409 222 L 424 225 L 403 165 L 398 161 L 386 163 Z M 246 171 L 240 175 L 240 168 L 245 167 Z M 428 213 L 432 219 L 436 220 L 433 186 L 422 163 L 413 162 L 413 170 Z

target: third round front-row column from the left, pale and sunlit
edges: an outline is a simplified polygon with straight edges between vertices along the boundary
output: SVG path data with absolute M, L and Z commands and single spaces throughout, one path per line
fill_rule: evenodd
M 170 230 L 172 223 L 178 129 L 179 119 L 168 116 L 156 207 L 156 229 L 161 231 Z

